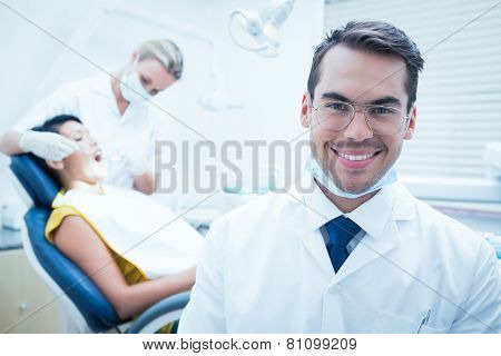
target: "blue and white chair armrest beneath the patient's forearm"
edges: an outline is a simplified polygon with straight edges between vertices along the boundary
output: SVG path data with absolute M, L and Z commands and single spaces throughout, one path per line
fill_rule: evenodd
M 128 334 L 153 334 L 170 322 L 178 320 L 189 301 L 189 291 L 167 297 L 146 309 L 134 323 Z

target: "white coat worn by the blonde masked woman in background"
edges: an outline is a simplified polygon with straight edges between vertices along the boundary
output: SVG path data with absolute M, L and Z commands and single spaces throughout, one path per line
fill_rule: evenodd
M 166 127 L 151 115 L 147 102 L 129 105 L 120 116 L 111 79 L 106 73 L 62 85 L 36 105 L 12 129 L 23 132 L 62 113 L 76 116 L 82 121 L 98 140 L 104 157 L 135 154 L 149 158 L 151 167 L 155 140 L 166 134 Z M 132 175 L 118 159 L 112 164 L 106 182 L 131 188 Z

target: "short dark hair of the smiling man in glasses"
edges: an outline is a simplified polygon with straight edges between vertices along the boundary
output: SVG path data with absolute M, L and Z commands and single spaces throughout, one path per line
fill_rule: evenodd
M 312 99 L 322 71 L 322 58 L 336 44 L 344 44 L 367 53 L 402 58 L 407 70 L 405 81 L 405 91 L 409 96 L 407 112 L 411 110 L 415 102 L 418 77 L 423 69 L 424 60 L 418 46 L 402 30 L 393 24 L 380 21 L 350 21 L 345 27 L 331 31 L 324 41 L 316 47 L 308 77 L 308 92 Z

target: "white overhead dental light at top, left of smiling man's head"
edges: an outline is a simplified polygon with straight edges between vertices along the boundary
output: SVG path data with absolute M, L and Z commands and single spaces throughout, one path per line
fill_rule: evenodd
M 278 56 L 279 27 L 293 10 L 295 0 L 273 0 L 261 12 L 235 9 L 229 13 L 228 31 L 242 49 L 264 57 Z

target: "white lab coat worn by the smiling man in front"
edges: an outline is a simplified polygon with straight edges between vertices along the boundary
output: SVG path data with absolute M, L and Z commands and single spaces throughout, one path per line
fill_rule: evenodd
M 335 274 L 320 227 L 341 211 L 314 187 L 213 222 L 179 333 L 500 332 L 481 237 L 396 182 L 346 215 L 366 235 Z

